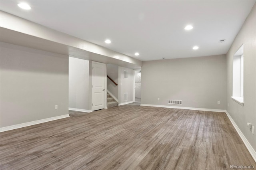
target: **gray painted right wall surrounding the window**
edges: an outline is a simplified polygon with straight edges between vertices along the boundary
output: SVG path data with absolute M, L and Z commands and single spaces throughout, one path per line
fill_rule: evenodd
M 244 43 L 244 106 L 232 96 L 233 55 Z M 236 36 L 227 53 L 227 111 L 256 150 L 256 133 L 253 135 L 246 123 L 252 123 L 256 130 L 256 4 Z

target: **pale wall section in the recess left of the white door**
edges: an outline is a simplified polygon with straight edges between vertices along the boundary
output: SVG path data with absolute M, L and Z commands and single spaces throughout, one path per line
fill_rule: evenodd
M 89 61 L 69 57 L 68 107 L 89 110 Z

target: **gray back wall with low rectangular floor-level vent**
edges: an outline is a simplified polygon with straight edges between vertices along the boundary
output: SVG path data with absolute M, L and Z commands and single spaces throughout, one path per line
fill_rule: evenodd
M 142 104 L 226 109 L 225 93 L 226 55 L 143 61 Z M 168 99 L 183 105 L 167 104 Z

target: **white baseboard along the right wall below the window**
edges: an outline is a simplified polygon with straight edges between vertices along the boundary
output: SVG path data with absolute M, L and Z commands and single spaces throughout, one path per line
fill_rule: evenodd
M 234 122 L 234 120 L 232 119 L 232 117 L 229 115 L 228 111 L 225 111 L 226 115 L 228 116 L 229 120 L 231 121 L 232 125 L 234 126 L 234 128 L 236 129 L 237 133 L 239 134 L 240 138 L 243 140 L 246 148 L 248 149 L 248 151 L 250 152 L 250 154 L 252 155 L 252 158 L 254 159 L 254 161 L 256 162 L 256 152 L 255 150 L 252 148 L 252 145 L 248 142 L 248 140 L 246 139 L 246 137 L 244 136 L 244 134 L 241 132 L 241 130 L 238 128 L 238 126 L 236 125 L 236 123 Z

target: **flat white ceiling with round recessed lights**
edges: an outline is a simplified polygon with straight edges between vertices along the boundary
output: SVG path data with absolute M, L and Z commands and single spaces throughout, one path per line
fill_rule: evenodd
M 1 0 L 0 10 L 148 61 L 226 54 L 255 0 L 23 1 L 31 10 L 19 2 Z M 184 30 L 187 24 L 194 29 Z

